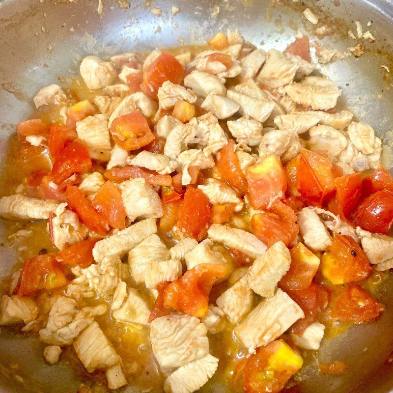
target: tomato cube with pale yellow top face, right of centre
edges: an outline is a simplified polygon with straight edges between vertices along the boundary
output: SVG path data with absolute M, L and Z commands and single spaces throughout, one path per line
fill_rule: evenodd
M 255 209 L 266 209 L 285 197 L 286 178 L 281 160 L 272 154 L 246 169 L 248 191 Z

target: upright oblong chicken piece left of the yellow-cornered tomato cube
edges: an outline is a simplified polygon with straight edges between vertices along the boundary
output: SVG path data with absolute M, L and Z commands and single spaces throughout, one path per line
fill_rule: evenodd
M 282 277 L 289 270 L 291 255 L 284 243 L 277 242 L 255 259 L 247 273 L 250 288 L 260 296 L 271 298 Z

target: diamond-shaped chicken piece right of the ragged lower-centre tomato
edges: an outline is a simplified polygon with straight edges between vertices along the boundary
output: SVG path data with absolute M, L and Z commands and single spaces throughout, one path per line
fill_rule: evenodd
M 253 290 L 243 276 L 217 299 L 217 306 L 227 315 L 229 321 L 236 324 L 250 312 L 253 307 Z

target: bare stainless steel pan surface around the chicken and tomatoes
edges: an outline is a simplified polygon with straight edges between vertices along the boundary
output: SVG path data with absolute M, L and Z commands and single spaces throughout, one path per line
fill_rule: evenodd
M 59 76 L 74 75 L 84 56 L 203 43 L 226 28 L 239 28 L 246 40 L 264 49 L 283 50 L 298 28 L 308 32 L 311 40 L 317 39 L 314 27 L 302 16 L 306 6 L 319 15 L 318 26 L 326 25 L 330 31 L 319 39 L 323 44 L 341 51 L 353 46 L 355 41 L 347 32 L 349 28 L 356 32 L 356 20 L 376 37 L 374 43 L 365 44 L 363 56 L 319 65 L 318 69 L 342 88 L 342 102 L 370 124 L 384 143 L 392 145 L 390 0 L 132 0 L 128 9 L 119 5 L 126 1 L 103 1 L 104 12 L 99 15 L 98 0 L 0 0 L 1 163 L 15 124 L 31 115 L 31 97 L 39 88 L 58 83 Z M 174 17 L 170 13 L 172 5 L 180 8 Z M 161 8 L 162 15 L 153 16 L 151 7 Z M 0 241 L 4 237 L 0 223 Z M 0 247 L 0 277 L 10 273 L 16 257 L 13 250 Z M 343 360 L 349 371 L 341 376 L 318 376 L 311 361 L 292 392 L 393 392 L 393 277 L 379 287 L 378 298 L 386 305 L 378 322 L 325 339 L 317 355 L 322 363 Z M 46 365 L 42 349 L 35 338 L 1 327 L 1 393 L 78 390 L 86 378 L 82 365 L 71 367 L 64 360 Z M 132 386 L 126 391 L 140 392 Z M 226 390 L 216 384 L 204 392 Z

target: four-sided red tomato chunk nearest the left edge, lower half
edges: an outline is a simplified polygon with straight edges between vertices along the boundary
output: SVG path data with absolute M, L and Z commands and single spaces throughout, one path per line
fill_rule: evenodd
M 18 294 L 30 296 L 41 289 L 55 289 L 67 283 L 63 268 L 53 254 L 26 259 L 20 278 Z

